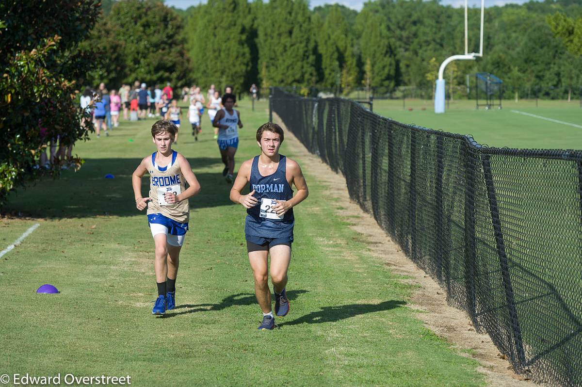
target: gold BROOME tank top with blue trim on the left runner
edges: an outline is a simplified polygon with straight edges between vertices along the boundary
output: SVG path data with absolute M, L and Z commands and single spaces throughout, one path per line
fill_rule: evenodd
M 190 219 L 188 200 L 173 204 L 167 204 L 164 200 L 165 192 L 174 192 L 177 195 L 186 189 L 184 176 L 180 172 L 178 152 L 172 151 L 172 161 L 165 167 L 155 164 L 156 153 L 152 153 L 148 159 L 150 201 L 147 205 L 147 214 L 162 214 L 176 222 L 186 223 Z

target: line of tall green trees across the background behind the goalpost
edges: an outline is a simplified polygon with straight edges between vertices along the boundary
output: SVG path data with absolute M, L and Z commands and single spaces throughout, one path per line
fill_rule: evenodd
M 100 52 L 95 82 L 429 88 L 440 63 L 464 52 L 464 10 L 436 0 L 375 0 L 360 12 L 310 10 L 304 0 L 208 0 L 187 10 L 109 0 L 103 7 L 87 41 Z M 466 74 L 489 72 L 513 88 L 579 86 L 580 20 L 582 0 L 487 8 L 484 57 L 453 62 L 447 81 L 462 85 Z M 479 27 L 480 9 L 472 8 L 470 52 L 478 51 Z

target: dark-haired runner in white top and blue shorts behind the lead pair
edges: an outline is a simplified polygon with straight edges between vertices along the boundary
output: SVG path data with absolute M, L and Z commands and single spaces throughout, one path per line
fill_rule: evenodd
M 212 126 L 218 128 L 218 149 L 225 167 L 222 176 L 225 176 L 227 183 L 232 183 L 235 173 L 235 154 L 239 147 L 239 130 L 243 127 L 240 120 L 240 112 L 233 109 L 236 97 L 234 94 L 225 93 L 222 96 L 224 109 L 217 112 L 212 121 Z

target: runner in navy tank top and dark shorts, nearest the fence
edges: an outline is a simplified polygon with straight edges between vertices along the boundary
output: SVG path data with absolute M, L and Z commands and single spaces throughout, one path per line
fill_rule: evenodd
M 257 130 L 261 154 L 243 162 L 230 190 L 230 200 L 247 209 L 244 234 L 249 262 L 254 274 L 255 294 L 263 313 L 258 329 L 271 330 L 275 319 L 271 311 L 268 258 L 271 256 L 271 282 L 275 292 L 275 314 L 289 313 L 285 286 L 291 260 L 293 207 L 308 196 L 307 184 L 299 164 L 279 154 L 283 129 L 268 122 Z M 241 191 L 250 183 L 250 193 Z M 297 189 L 293 196 L 292 184 Z

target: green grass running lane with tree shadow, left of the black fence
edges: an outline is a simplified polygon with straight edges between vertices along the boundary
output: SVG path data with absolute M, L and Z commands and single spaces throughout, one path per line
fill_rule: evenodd
M 257 154 L 254 132 L 266 108 L 240 104 L 237 168 Z M 137 386 L 484 384 L 476 361 L 424 328 L 408 305 L 413 289 L 368 253 L 338 215 L 330 187 L 301 159 L 310 197 L 295 212 L 291 311 L 278 319 L 281 329 L 257 331 L 245 213 L 228 199 L 206 116 L 200 141 L 184 127 L 175 146 L 202 187 L 190 200 L 178 307 L 152 316 L 154 244 L 130 176 L 155 150 L 153 122 L 92 135 L 74 150 L 86 159 L 79 172 L 10 196 L 6 210 L 33 219 L 0 219 L 0 250 L 35 222 L 41 226 L 0 262 L 0 373 L 130 375 Z M 294 156 L 285 143 L 282 153 Z M 104 179 L 107 173 L 115 179 Z M 43 283 L 61 293 L 36 294 Z

